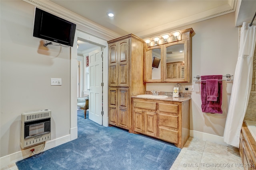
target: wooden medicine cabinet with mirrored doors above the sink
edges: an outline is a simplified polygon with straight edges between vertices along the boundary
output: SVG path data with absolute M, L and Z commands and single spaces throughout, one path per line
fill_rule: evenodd
M 192 28 L 181 30 L 180 41 L 144 49 L 144 82 L 190 82 L 192 32 Z M 154 59 L 160 59 L 158 68 Z

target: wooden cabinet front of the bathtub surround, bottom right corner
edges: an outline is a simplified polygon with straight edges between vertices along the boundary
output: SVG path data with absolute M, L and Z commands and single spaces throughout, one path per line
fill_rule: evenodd
M 256 141 L 244 122 L 240 133 L 239 152 L 244 170 L 256 170 Z

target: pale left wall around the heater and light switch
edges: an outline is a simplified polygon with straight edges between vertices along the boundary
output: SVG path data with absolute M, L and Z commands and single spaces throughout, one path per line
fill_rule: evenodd
M 50 109 L 51 141 L 70 135 L 70 47 L 44 48 L 40 39 L 32 37 L 33 5 L 21 0 L 0 3 L 0 156 L 3 158 L 21 151 L 22 112 Z M 50 78 L 62 78 L 62 86 L 50 86 Z

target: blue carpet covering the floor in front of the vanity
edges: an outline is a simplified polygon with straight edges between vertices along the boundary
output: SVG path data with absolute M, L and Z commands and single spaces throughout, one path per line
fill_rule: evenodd
M 19 170 L 169 170 L 180 149 L 116 127 L 78 110 L 78 139 L 16 162 Z M 47 144 L 46 144 L 47 145 Z

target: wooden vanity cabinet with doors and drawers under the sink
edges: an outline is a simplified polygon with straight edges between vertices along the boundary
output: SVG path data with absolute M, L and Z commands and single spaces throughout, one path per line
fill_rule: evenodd
M 190 134 L 190 100 L 132 99 L 133 132 L 156 137 L 182 148 Z

